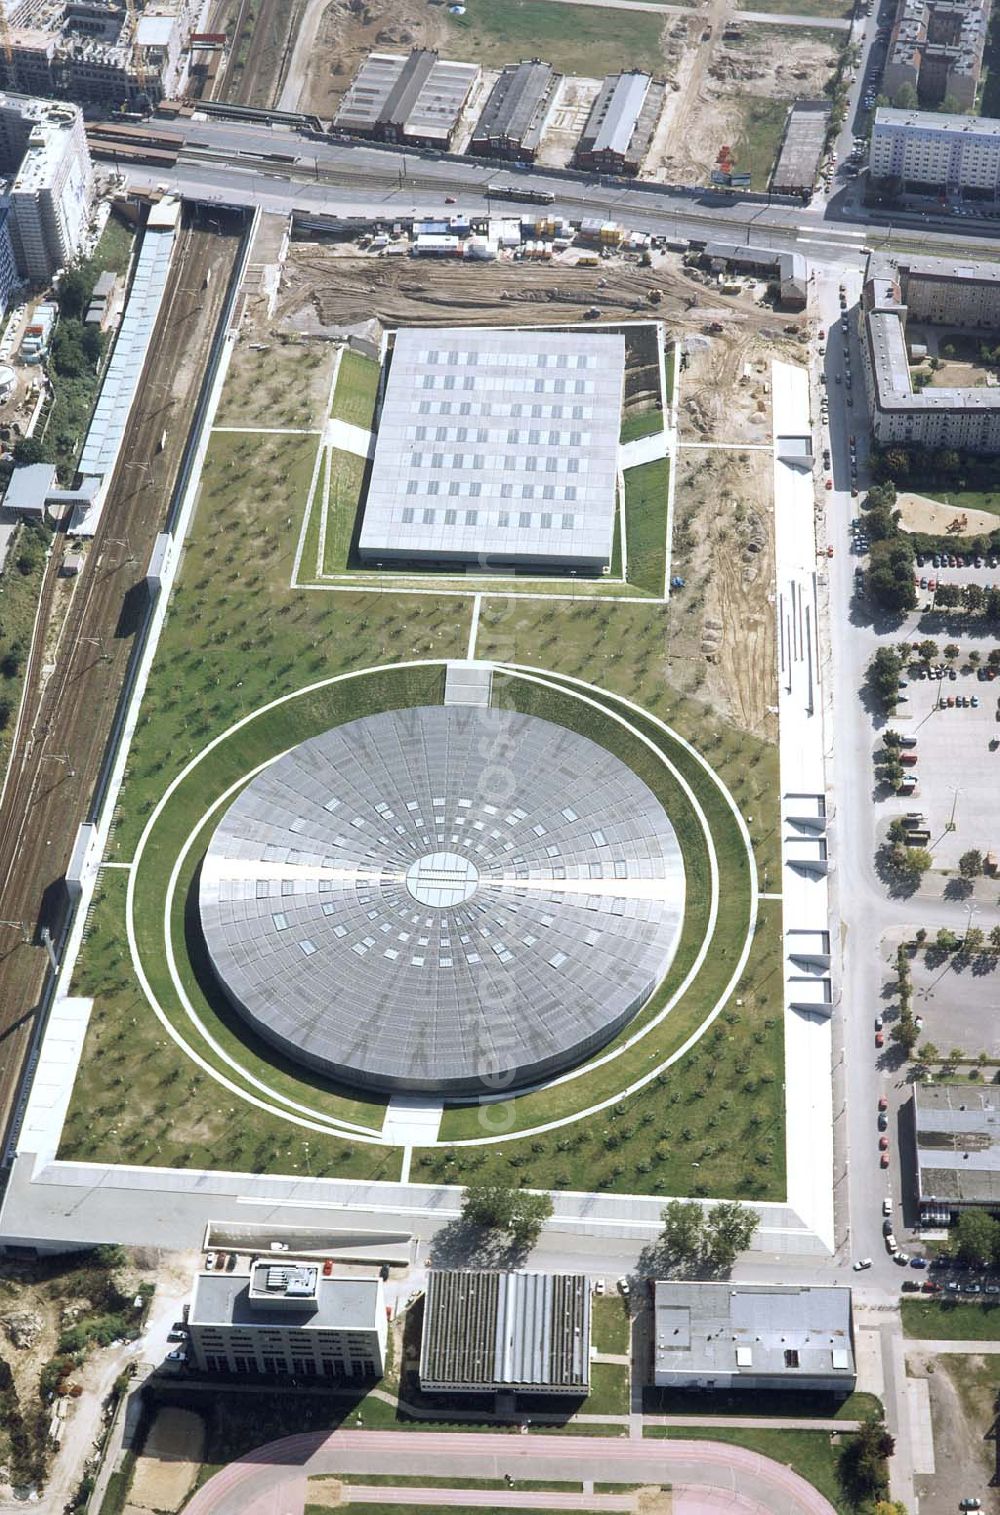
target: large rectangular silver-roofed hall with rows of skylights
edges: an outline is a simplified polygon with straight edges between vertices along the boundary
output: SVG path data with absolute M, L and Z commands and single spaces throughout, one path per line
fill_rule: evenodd
M 620 333 L 397 332 L 361 558 L 602 573 L 623 392 Z

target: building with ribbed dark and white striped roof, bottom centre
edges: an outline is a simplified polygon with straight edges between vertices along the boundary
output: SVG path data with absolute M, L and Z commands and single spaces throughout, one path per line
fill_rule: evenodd
M 591 1289 L 579 1273 L 427 1274 L 420 1386 L 564 1394 L 591 1382 Z

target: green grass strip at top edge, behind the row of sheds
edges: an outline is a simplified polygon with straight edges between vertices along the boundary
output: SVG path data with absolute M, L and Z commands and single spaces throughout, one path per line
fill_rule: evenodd
M 544 58 L 565 74 L 600 79 L 623 68 L 662 74 L 662 21 L 650 12 L 615 17 L 591 6 L 547 5 L 545 0 L 489 0 L 465 15 L 444 17 L 442 56 L 495 68 L 512 58 Z

